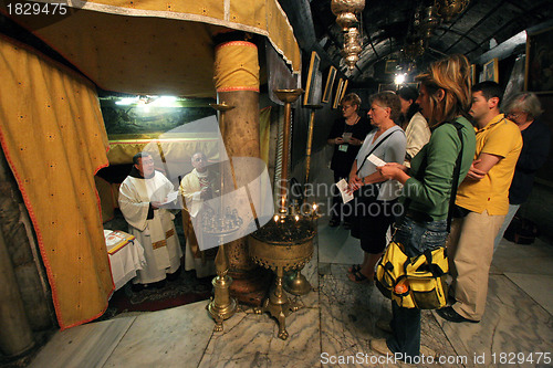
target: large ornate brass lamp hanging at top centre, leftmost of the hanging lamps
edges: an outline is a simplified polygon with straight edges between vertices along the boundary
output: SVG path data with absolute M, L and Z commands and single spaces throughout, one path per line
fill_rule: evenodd
M 365 9 L 365 0 L 331 0 L 331 10 L 336 15 L 336 23 L 344 32 L 342 55 L 349 70 L 355 67 L 363 50 L 356 15 L 363 9 Z

